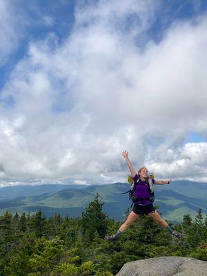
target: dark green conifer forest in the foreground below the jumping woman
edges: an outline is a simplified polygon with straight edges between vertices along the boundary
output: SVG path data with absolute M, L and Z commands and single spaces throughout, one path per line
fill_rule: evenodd
M 137 259 L 190 256 L 207 261 L 207 217 L 201 210 L 172 225 L 184 235 L 182 240 L 172 240 L 144 216 L 117 242 L 107 242 L 104 237 L 120 224 L 103 213 L 99 195 L 75 219 L 59 214 L 46 219 L 41 210 L 34 215 L 6 212 L 0 217 L 0 275 L 112 276 Z

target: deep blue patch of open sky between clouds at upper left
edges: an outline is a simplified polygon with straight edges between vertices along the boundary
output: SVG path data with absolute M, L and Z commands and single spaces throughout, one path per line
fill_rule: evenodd
M 20 12 L 26 22 L 23 34 L 15 51 L 0 68 L 0 87 L 6 82 L 15 64 L 28 52 L 30 41 L 44 39 L 50 32 L 55 33 L 59 43 L 68 37 L 74 23 L 75 1 L 13 1 L 12 8 Z M 41 22 L 42 17 L 48 17 L 48 24 Z

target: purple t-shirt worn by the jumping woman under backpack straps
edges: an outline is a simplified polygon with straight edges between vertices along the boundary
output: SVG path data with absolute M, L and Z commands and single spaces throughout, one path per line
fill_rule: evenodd
M 139 182 L 137 183 L 137 180 L 139 179 Z M 155 183 L 155 180 L 152 179 L 153 184 Z M 138 175 L 135 175 L 134 177 L 134 184 L 135 184 L 135 196 L 136 197 L 150 197 L 150 189 L 148 180 L 142 181 Z M 148 205 L 152 202 L 150 200 L 143 200 L 143 201 L 137 201 L 135 204 L 139 205 Z

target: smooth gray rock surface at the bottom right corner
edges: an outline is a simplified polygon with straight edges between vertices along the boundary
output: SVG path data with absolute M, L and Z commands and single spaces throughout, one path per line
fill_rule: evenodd
M 207 276 L 207 262 L 188 257 L 157 257 L 124 264 L 117 276 Z

